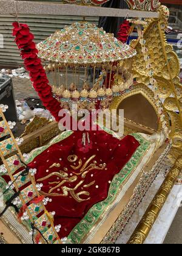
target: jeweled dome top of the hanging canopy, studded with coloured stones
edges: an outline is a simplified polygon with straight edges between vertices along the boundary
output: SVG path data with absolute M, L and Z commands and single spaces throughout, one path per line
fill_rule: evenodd
M 73 23 L 38 44 L 39 57 L 52 63 L 96 65 L 132 58 L 136 51 L 103 28 Z

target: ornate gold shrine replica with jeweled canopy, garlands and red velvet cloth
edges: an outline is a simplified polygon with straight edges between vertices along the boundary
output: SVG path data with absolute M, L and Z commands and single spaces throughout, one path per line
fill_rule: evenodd
M 80 3 L 65 2 L 65 8 Z M 81 4 L 99 8 L 104 2 Z M 0 105 L 1 226 L 17 243 L 115 243 L 167 165 L 163 185 L 128 241 L 144 243 L 180 175 L 182 89 L 178 58 L 164 35 L 169 10 L 158 0 L 126 2 L 132 19 L 118 39 L 81 18 L 35 45 L 29 27 L 13 23 L 32 85 L 55 118 L 35 117 L 15 139 L 15 124 L 4 116 L 8 106 Z M 23 1 L 10 1 L 10 9 L 0 3 L 1 13 L 28 12 Z M 30 13 L 38 6 L 26 3 Z M 55 4 L 46 6 L 50 14 Z M 134 18 L 136 10 L 147 18 Z M 134 28 L 138 39 L 128 45 Z M 124 136 L 96 120 L 100 130 L 61 132 L 59 111 L 73 106 L 124 109 Z

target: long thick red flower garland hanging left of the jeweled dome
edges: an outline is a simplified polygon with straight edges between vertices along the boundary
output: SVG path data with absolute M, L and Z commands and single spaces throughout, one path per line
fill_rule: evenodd
M 38 58 L 38 50 L 33 42 L 34 36 L 30 33 L 29 26 L 26 24 L 13 23 L 13 36 L 18 49 L 21 49 L 21 57 L 24 60 L 24 65 L 27 71 L 30 72 L 30 80 L 33 82 L 33 87 L 38 92 L 44 106 L 59 121 L 59 111 L 61 106 L 59 102 L 52 96 L 52 88 L 49 85 L 49 80 L 42 67 L 41 60 Z

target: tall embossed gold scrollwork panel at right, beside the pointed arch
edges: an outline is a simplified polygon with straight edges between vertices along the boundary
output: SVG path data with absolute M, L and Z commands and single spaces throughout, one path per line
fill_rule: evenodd
M 147 54 L 153 70 L 153 78 L 157 80 L 157 93 L 164 102 L 163 110 L 167 113 L 167 123 L 170 121 L 169 137 L 175 148 L 182 149 L 182 86 L 179 80 L 180 63 L 171 45 L 167 44 L 165 29 L 168 26 L 169 10 L 161 5 L 158 8 L 160 18 L 146 19 L 144 26 L 144 41 Z M 145 85 L 149 82 L 148 70 L 144 61 L 139 40 L 133 40 L 131 46 L 136 49 L 133 62 L 133 75 L 138 83 Z M 136 84 L 136 87 L 138 85 Z M 147 86 L 146 86 L 147 87 Z M 140 91 L 140 88 L 138 88 Z M 179 112 L 175 113 L 175 112 Z M 171 117 L 172 116 L 172 117 Z M 174 117 L 175 116 L 175 117 Z M 177 128 L 177 129 L 176 129 Z

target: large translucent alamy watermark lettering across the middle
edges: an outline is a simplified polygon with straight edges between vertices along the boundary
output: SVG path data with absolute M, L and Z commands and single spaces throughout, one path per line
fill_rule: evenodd
M 62 109 L 59 112 L 59 129 L 64 130 L 80 130 L 80 131 L 96 131 L 102 130 L 102 127 L 113 130 L 118 137 L 124 134 L 124 110 L 78 110 L 77 105 L 73 104 L 72 110 Z M 99 126 L 96 125 L 98 121 Z

